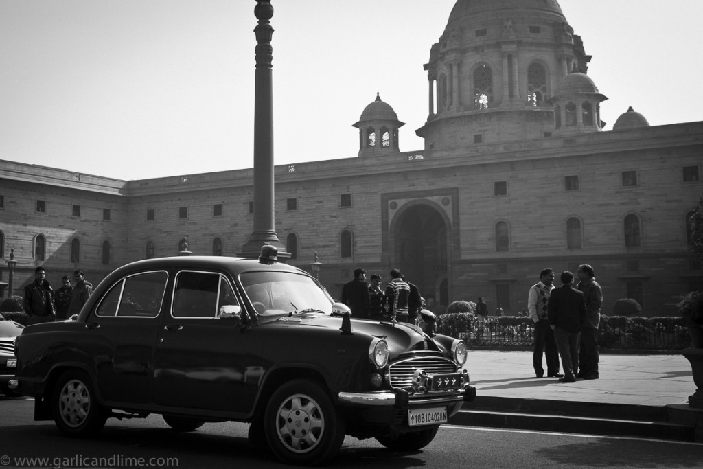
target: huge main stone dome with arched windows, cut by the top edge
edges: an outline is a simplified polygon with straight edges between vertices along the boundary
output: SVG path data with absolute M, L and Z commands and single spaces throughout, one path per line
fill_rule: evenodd
M 556 0 L 458 0 L 425 64 L 425 150 L 539 139 L 553 131 L 548 98 L 576 68 L 583 41 Z

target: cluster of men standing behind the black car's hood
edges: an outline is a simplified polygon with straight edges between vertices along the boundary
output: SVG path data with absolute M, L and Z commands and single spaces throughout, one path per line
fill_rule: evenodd
M 340 301 L 352 309 L 355 318 L 395 318 L 398 322 L 414 324 L 423 307 L 420 290 L 408 282 L 399 269 L 392 269 L 390 276 L 391 281 L 384 290 L 380 275 L 372 274 L 370 283 L 366 283 L 366 271 L 354 269 L 354 280 L 344 284 Z

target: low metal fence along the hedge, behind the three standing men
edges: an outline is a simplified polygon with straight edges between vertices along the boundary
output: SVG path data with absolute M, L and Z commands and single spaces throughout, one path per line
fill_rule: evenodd
M 534 345 L 534 322 L 524 316 L 482 320 L 471 313 L 443 314 L 437 319 L 437 332 L 475 347 Z M 691 338 L 683 318 L 602 316 L 598 344 L 601 349 L 681 350 L 691 346 Z

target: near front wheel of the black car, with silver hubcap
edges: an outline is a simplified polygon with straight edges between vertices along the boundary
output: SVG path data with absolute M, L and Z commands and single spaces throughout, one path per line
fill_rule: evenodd
M 345 425 L 321 385 L 292 380 L 269 399 L 264 429 L 271 451 L 281 461 L 316 465 L 337 454 Z

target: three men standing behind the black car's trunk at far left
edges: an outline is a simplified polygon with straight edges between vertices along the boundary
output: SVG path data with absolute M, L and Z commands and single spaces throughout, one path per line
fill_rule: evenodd
M 44 267 L 34 269 L 34 281 L 25 287 L 25 313 L 29 316 L 29 323 L 48 323 L 63 321 L 81 308 L 93 293 L 93 285 L 85 280 L 83 272 L 73 272 L 76 285 L 71 285 L 69 276 L 61 278 L 61 288 L 53 291 L 49 281 L 46 280 Z

